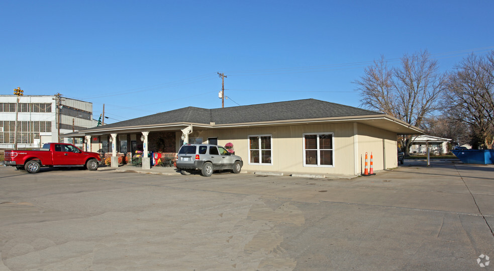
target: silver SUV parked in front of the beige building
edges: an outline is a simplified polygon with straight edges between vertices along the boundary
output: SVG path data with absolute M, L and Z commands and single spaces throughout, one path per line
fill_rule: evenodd
M 199 169 L 203 176 L 209 177 L 214 170 L 231 169 L 240 173 L 244 165 L 242 158 L 228 152 L 224 147 L 208 144 L 185 144 L 177 154 L 177 169 L 183 175 Z

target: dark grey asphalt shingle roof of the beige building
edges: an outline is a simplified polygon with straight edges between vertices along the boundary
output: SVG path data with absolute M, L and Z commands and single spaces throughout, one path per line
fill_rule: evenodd
M 249 106 L 204 109 L 186 107 L 98 128 L 116 128 L 166 123 L 235 124 L 297 119 L 381 115 L 383 113 L 315 100 L 296 100 Z M 94 128 L 90 128 L 92 130 Z

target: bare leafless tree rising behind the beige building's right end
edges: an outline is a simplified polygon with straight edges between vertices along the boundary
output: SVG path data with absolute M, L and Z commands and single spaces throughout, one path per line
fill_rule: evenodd
M 440 107 L 439 98 L 446 85 L 436 60 L 427 51 L 405 54 L 401 66 L 389 68 L 383 57 L 364 70 L 358 85 L 363 107 L 381 111 L 414 126 Z M 410 155 L 410 135 L 400 137 L 406 155 Z

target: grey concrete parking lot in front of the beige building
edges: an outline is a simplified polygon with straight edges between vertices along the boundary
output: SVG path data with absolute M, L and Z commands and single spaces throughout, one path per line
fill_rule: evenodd
M 334 180 L 0 167 L 0 270 L 492 270 L 493 178 L 451 161 Z

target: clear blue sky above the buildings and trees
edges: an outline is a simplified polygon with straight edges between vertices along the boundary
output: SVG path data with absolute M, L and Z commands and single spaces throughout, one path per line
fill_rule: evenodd
M 446 71 L 494 49 L 494 1 L 0 2 L 0 94 L 93 103 L 126 120 L 177 108 L 314 98 L 360 105 L 384 55 L 428 50 Z M 478 49 L 486 48 L 486 49 Z M 397 62 L 392 62 L 397 63 Z

